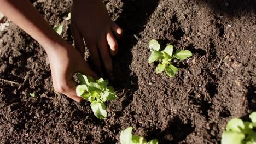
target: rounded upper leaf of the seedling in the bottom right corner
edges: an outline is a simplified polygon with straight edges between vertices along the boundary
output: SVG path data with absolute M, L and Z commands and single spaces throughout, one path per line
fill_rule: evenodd
M 226 124 L 227 131 L 241 132 L 241 129 L 245 129 L 242 119 L 232 118 L 228 124 Z

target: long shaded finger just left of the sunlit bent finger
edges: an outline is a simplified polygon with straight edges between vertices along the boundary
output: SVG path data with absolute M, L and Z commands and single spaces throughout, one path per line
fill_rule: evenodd
M 107 70 L 109 79 L 114 79 L 113 77 L 113 65 L 112 65 L 112 59 L 109 55 L 109 50 L 107 47 L 107 41 L 106 41 L 106 35 L 101 35 L 100 40 L 98 41 L 98 48 L 101 53 L 101 58 L 104 64 L 104 67 Z

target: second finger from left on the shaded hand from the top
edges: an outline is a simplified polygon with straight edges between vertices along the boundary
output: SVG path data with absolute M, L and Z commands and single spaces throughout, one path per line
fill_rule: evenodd
M 101 58 L 99 56 L 100 53 L 98 52 L 97 44 L 96 43 L 88 43 L 86 45 L 88 46 L 90 56 L 91 56 L 91 60 L 92 60 L 92 64 L 94 65 L 94 68 L 96 69 L 98 74 L 103 76 L 102 69 L 101 69 Z

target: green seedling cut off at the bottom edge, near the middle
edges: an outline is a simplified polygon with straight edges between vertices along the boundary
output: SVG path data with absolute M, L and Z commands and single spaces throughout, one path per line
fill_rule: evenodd
M 121 131 L 120 142 L 121 144 L 158 144 L 158 140 L 156 139 L 147 142 L 144 137 L 132 135 L 132 127 L 128 127 L 125 130 Z

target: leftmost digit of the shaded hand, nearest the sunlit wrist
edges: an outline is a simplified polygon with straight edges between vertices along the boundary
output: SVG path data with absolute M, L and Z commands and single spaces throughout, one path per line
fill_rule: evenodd
M 80 35 L 78 29 L 75 28 L 73 25 L 71 25 L 71 32 L 74 37 L 75 48 L 81 53 L 82 57 L 84 58 L 84 39 L 82 35 Z

